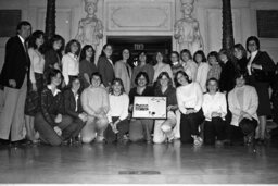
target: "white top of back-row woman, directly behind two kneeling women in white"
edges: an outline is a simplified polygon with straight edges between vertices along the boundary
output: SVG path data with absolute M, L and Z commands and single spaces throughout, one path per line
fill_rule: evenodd
M 201 63 L 198 66 L 195 82 L 200 84 L 203 92 L 206 92 L 206 80 L 207 80 L 207 74 L 210 70 L 211 70 L 211 66 L 207 63 Z

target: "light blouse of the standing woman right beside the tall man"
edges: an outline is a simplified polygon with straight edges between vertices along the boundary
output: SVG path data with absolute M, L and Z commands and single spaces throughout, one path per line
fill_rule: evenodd
M 35 84 L 35 73 L 43 74 L 45 58 L 38 50 L 34 50 L 34 48 L 28 49 L 28 54 L 30 58 L 30 82 Z

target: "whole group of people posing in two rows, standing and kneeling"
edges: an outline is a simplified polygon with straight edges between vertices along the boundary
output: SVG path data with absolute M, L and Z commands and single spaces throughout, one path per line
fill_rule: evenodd
M 235 45 L 235 58 L 224 49 L 207 58 L 202 50 L 192 57 L 184 49 L 173 51 L 169 62 L 163 52 L 150 62 L 140 51 L 138 65 L 130 66 L 129 49 L 114 62 L 113 46 L 106 44 L 94 63 L 90 45 L 81 48 L 72 39 L 63 51 L 60 35 L 45 42 L 43 32 L 30 32 L 31 25 L 21 22 L 7 42 L 0 75 L 2 144 L 265 142 L 276 65 L 254 36 L 247 39 L 247 50 Z M 166 97 L 167 119 L 132 117 L 138 96 Z

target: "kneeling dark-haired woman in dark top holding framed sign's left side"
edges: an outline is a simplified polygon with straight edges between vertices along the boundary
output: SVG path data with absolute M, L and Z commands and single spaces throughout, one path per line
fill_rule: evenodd
M 153 96 L 152 87 L 149 84 L 149 77 L 146 72 L 140 72 L 135 78 L 137 85 L 129 92 L 130 106 L 129 110 L 134 109 L 134 100 L 136 96 Z M 129 125 L 129 139 L 131 141 L 147 140 L 151 142 L 151 131 L 153 127 L 153 120 L 150 119 L 132 119 Z

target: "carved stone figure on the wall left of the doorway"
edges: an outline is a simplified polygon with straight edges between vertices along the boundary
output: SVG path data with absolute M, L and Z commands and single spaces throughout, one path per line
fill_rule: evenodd
M 85 0 L 85 12 L 87 12 L 87 16 L 79 21 L 75 37 L 83 46 L 92 45 L 94 50 L 103 37 L 102 22 L 96 16 L 97 4 L 98 0 Z

